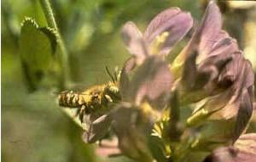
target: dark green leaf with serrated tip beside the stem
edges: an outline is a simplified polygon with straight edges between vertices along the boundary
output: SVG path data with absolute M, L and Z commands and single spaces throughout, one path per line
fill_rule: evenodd
M 53 29 L 39 28 L 35 20 L 26 18 L 21 25 L 20 59 L 30 90 L 36 90 L 53 66 L 56 50 Z

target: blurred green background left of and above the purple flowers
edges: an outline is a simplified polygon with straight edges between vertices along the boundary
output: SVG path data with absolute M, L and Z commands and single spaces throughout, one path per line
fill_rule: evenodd
M 53 0 L 55 20 L 68 52 L 69 87 L 105 83 L 105 72 L 121 66 L 129 54 L 120 37 L 121 26 L 134 21 L 140 29 L 165 8 L 179 7 L 200 20 L 202 1 L 187 0 Z M 82 130 L 56 103 L 56 87 L 29 92 L 20 64 L 20 23 L 32 17 L 46 26 L 36 0 L 2 1 L 2 160 L 15 161 L 131 161 L 96 156 L 94 145 L 82 142 Z M 235 20 L 236 21 L 236 20 Z M 185 41 L 187 39 L 184 39 Z M 174 49 L 177 54 L 185 42 Z

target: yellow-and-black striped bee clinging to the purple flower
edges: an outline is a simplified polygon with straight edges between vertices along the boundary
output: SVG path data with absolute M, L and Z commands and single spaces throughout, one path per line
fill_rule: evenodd
M 110 75 L 106 67 L 108 75 Z M 110 75 L 113 81 L 107 84 L 96 85 L 84 91 L 63 91 L 58 96 L 58 103 L 61 107 L 77 109 L 75 116 L 79 116 L 81 123 L 84 122 L 84 115 L 104 114 L 111 109 L 111 104 L 121 100 L 117 77 Z

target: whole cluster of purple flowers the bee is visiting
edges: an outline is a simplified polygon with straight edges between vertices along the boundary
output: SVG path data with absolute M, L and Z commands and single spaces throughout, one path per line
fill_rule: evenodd
M 85 142 L 95 142 L 110 129 L 122 154 L 138 161 L 161 161 L 150 140 L 154 125 L 168 112 L 169 120 L 161 126 L 164 145 L 172 149 L 166 160 L 185 161 L 186 148 L 193 152 L 205 147 L 211 152 L 216 148 L 213 143 L 226 147 L 214 150 L 205 162 L 256 161 L 255 134 L 242 135 L 253 113 L 253 68 L 236 40 L 222 30 L 216 3 L 208 4 L 201 24 L 177 58 L 166 61 L 192 26 L 191 15 L 179 8 L 156 15 L 143 33 L 132 22 L 124 25 L 122 36 L 132 57 L 120 72 L 122 99 L 94 120 L 90 131 L 84 132 Z M 185 121 L 175 116 L 181 109 L 193 111 Z M 248 141 L 250 146 L 242 144 Z

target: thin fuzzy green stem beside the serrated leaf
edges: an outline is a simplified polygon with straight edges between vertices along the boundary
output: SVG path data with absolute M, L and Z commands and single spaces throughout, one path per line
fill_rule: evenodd
M 66 82 L 69 79 L 69 68 L 68 68 L 68 56 L 67 56 L 67 49 L 65 47 L 65 44 L 61 38 L 61 33 L 57 27 L 55 17 L 53 14 L 53 10 L 50 7 L 49 0 L 40 0 L 41 7 L 44 11 L 45 19 L 47 20 L 47 23 L 50 28 L 53 28 L 56 31 L 56 39 L 58 42 L 58 45 L 60 47 L 61 53 L 57 53 L 59 64 L 61 66 L 61 75 L 59 78 L 59 88 L 66 87 Z

